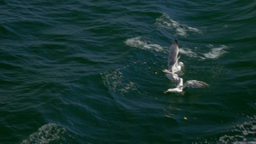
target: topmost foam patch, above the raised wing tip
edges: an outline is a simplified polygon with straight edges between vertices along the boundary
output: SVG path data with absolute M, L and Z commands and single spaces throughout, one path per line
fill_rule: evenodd
M 168 30 L 176 32 L 177 35 L 187 37 L 188 32 L 196 32 L 201 33 L 201 31 L 195 27 L 187 26 L 178 23 L 175 20 L 172 20 L 172 18 L 168 14 L 162 14 L 159 18 L 156 19 L 156 26 L 166 28 Z

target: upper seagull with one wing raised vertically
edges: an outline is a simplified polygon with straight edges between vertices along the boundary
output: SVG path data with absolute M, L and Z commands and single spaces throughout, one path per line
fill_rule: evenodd
M 177 39 L 175 39 L 174 43 L 172 43 L 170 47 L 169 57 L 168 57 L 168 69 L 172 72 L 181 71 L 181 68 L 184 66 L 183 62 L 178 62 L 178 45 Z

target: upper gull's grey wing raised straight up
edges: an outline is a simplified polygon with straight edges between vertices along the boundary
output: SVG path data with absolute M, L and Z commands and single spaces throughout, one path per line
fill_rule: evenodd
M 169 57 L 168 57 L 168 68 L 172 71 L 172 66 L 177 62 L 177 54 L 178 54 L 178 45 L 177 40 L 175 43 L 172 43 L 170 47 Z

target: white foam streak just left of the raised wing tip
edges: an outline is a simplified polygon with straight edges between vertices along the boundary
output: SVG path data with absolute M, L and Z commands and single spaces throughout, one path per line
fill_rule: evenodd
M 148 44 L 148 42 L 145 41 L 143 37 L 128 38 L 127 40 L 125 40 L 125 44 L 138 49 L 153 49 L 155 51 L 164 51 L 164 48 L 162 46 L 153 43 Z

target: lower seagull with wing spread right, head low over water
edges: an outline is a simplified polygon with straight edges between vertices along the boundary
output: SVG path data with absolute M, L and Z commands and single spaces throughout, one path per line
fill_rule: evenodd
M 165 93 L 170 93 L 170 92 L 177 92 L 181 93 L 183 92 L 183 89 L 185 88 L 203 88 L 207 87 L 208 84 L 198 81 L 198 80 L 188 80 L 185 84 L 183 84 L 183 78 L 178 78 L 177 81 L 177 87 L 174 89 L 167 89 Z

